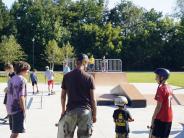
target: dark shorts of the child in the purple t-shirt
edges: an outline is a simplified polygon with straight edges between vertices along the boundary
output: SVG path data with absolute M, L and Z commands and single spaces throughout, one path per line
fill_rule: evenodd
M 12 133 L 24 133 L 24 113 L 18 112 L 14 115 L 9 115 L 10 130 Z

